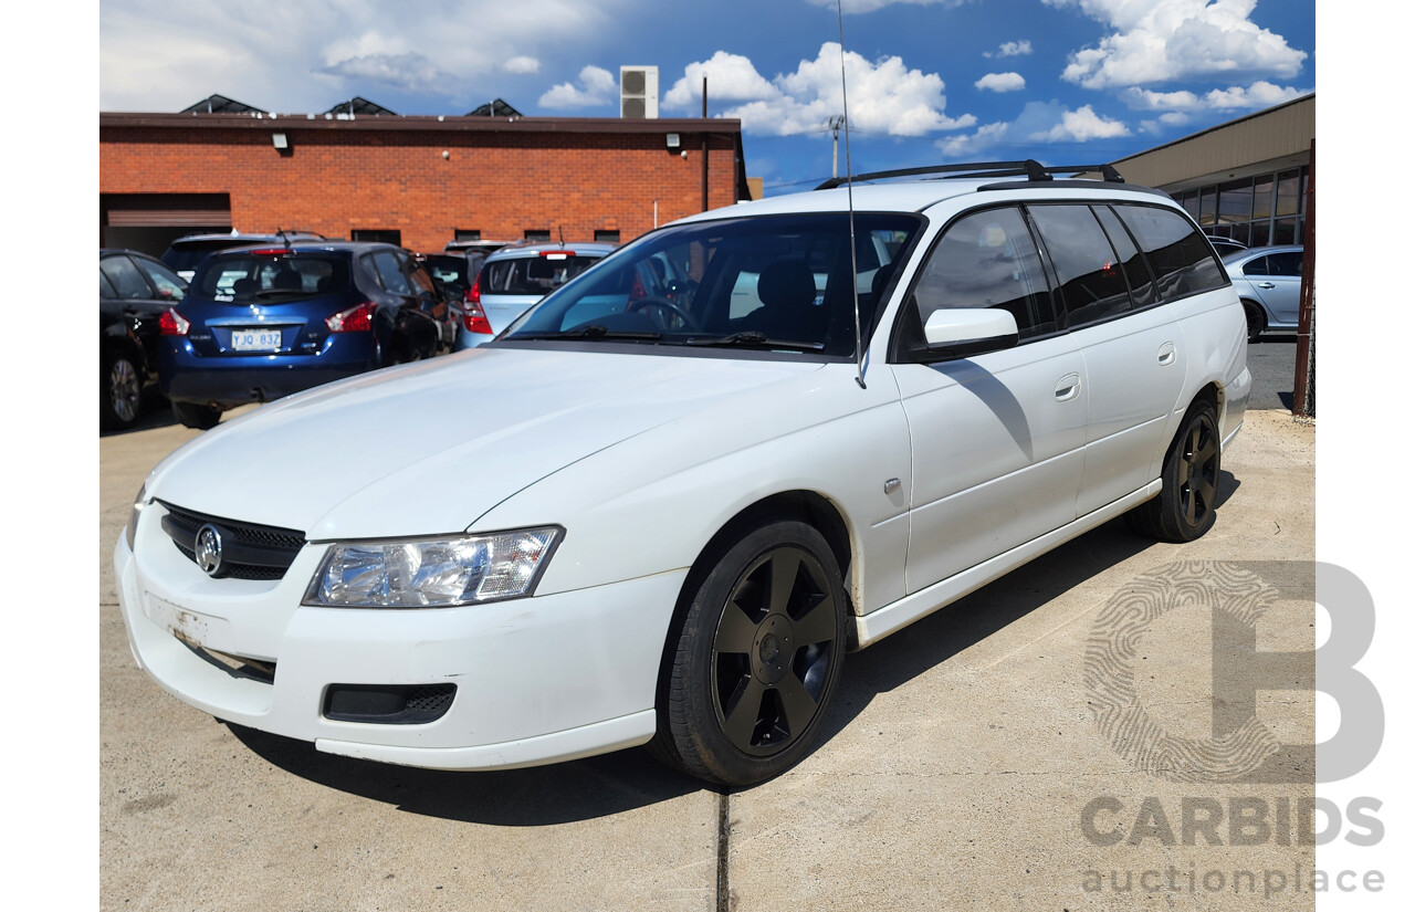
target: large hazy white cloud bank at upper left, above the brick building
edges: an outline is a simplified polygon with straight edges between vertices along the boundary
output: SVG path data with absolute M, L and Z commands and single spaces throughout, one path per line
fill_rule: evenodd
M 381 98 L 389 86 L 454 110 L 499 93 L 508 58 L 583 45 L 635 1 L 424 0 L 409 14 L 366 0 L 103 0 L 99 109 L 175 112 L 221 93 L 304 113 L 362 95 L 437 113 Z

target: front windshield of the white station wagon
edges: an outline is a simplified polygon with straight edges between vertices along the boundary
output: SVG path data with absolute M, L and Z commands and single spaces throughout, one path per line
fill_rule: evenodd
M 855 294 L 867 334 L 920 218 L 845 212 L 665 228 L 616 252 L 512 324 L 504 339 L 611 339 L 849 356 Z M 852 288 L 853 286 L 853 288 Z

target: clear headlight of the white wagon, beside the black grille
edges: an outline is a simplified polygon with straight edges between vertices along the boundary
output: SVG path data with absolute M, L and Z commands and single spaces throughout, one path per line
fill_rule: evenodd
M 306 605 L 446 608 L 529 595 L 563 529 L 331 544 Z

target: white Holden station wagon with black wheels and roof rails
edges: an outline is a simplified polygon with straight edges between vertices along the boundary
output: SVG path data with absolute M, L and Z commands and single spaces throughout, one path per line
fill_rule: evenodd
M 846 652 L 1121 515 L 1201 536 L 1251 379 L 1197 226 L 1109 170 L 932 171 L 668 225 L 187 444 L 115 549 L 139 665 L 330 754 L 741 785 Z

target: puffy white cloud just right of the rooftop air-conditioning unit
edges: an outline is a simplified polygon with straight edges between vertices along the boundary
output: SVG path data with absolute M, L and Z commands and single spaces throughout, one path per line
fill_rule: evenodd
M 719 69 L 713 68 L 713 61 L 717 61 Z M 696 103 L 705 71 L 709 106 L 723 98 L 741 100 L 717 113 L 740 119 L 746 131 L 775 136 L 814 133 L 842 113 L 841 45 L 831 41 L 821 45 L 814 61 L 801 61 L 795 72 L 771 81 L 764 79 L 747 58 L 719 51 L 706 64 L 688 65 L 683 79 L 665 93 L 665 106 L 691 107 Z M 947 116 L 942 78 L 908 69 L 899 57 L 870 62 L 849 51 L 845 54 L 845 79 L 850 88 L 849 116 L 855 130 L 923 136 L 976 123 L 972 115 Z M 723 86 L 720 92 L 719 83 Z

